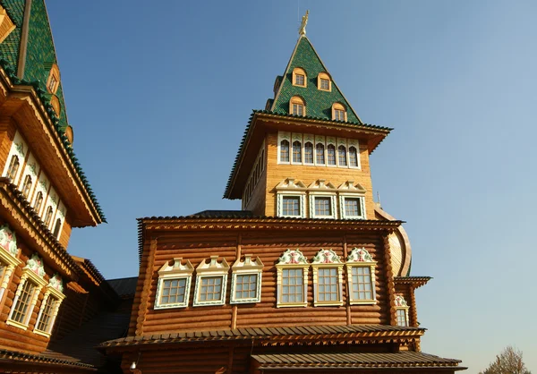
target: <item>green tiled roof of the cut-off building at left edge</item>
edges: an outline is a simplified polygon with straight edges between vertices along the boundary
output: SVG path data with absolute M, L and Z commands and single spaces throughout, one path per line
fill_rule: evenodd
M 61 81 L 56 91 L 56 96 L 61 106 L 59 118 L 50 104 L 50 94 L 47 93 L 46 84 L 50 66 L 51 64 L 57 64 L 57 59 L 44 0 L 32 0 L 31 2 L 24 72 L 21 78 L 17 76 L 25 3 L 25 0 L 0 0 L 0 4 L 2 4 L 15 24 L 15 29 L 0 43 L 0 67 L 4 69 L 13 84 L 32 86 L 35 89 L 38 98 L 45 106 L 52 123 L 54 123 L 55 132 L 62 140 L 64 149 L 70 156 L 72 165 L 77 174 L 79 174 L 81 182 L 98 212 L 98 216 L 102 222 L 107 222 L 98 205 L 95 194 L 91 190 L 90 183 L 82 171 L 77 157 L 74 155 L 72 145 L 64 134 L 69 123 L 65 111 L 64 90 Z

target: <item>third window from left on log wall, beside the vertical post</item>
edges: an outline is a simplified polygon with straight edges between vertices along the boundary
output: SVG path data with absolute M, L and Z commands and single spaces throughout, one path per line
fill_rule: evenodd
M 244 255 L 244 260 L 235 261 L 231 284 L 231 300 L 233 303 L 261 301 L 261 274 L 263 263 L 260 258 L 251 259 L 251 254 Z

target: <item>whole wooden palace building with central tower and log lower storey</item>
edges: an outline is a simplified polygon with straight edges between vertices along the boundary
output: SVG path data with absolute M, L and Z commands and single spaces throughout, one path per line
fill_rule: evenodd
M 453 373 L 422 353 L 411 248 L 373 200 L 363 123 L 305 35 L 254 111 L 224 197 L 242 210 L 139 219 L 124 373 Z

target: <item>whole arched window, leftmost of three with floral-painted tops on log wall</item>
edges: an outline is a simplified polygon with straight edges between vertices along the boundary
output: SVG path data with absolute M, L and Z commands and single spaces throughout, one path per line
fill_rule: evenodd
M 277 261 L 277 307 L 305 307 L 310 264 L 303 253 L 286 250 Z

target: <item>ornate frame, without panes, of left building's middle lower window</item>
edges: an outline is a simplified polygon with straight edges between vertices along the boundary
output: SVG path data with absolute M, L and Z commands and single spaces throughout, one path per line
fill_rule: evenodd
M 33 289 L 32 291 L 30 303 L 24 314 L 23 321 L 18 322 L 13 320 L 12 317 L 13 312 L 18 305 L 19 297 L 22 293 L 22 288 L 24 287 L 26 282 L 30 282 L 32 285 L 34 285 L 35 289 Z M 17 287 L 15 297 L 13 298 L 13 304 L 11 310 L 9 311 L 9 315 L 7 317 L 7 320 L 5 321 L 5 324 L 26 330 L 30 322 L 31 313 L 35 309 L 36 304 L 38 302 L 39 293 L 41 293 L 41 289 L 46 285 L 47 281 L 45 280 L 45 269 L 43 268 L 43 260 L 40 259 L 37 254 L 34 254 L 31 259 L 28 260 L 26 266 L 22 268 L 21 282 Z

